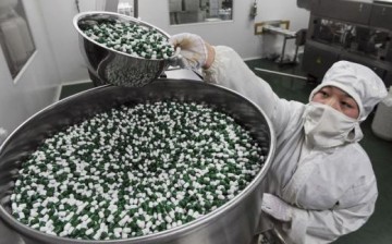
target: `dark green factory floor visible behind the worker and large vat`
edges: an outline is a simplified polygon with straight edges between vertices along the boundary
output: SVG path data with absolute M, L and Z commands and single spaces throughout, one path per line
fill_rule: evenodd
M 268 60 L 252 60 L 246 62 L 252 69 L 260 68 L 299 76 L 306 76 L 301 71 L 301 65 L 279 66 Z M 272 74 L 268 72 L 255 71 L 260 77 L 266 80 L 273 90 L 282 98 L 287 100 L 308 101 L 314 83 L 286 75 Z M 91 84 L 78 84 L 64 86 L 60 98 L 64 98 L 77 91 L 93 87 Z M 378 179 L 379 198 L 376 211 L 370 220 L 358 231 L 341 237 L 335 244 L 391 244 L 392 243 L 392 142 L 385 142 L 373 135 L 371 131 L 371 114 L 362 124 L 365 134 L 360 142 L 368 152 Z

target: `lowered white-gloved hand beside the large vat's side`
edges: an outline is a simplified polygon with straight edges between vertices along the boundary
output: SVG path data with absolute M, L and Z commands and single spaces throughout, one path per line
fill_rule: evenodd
M 269 193 L 262 194 L 261 210 L 281 221 L 291 221 L 292 219 L 290 205 Z

